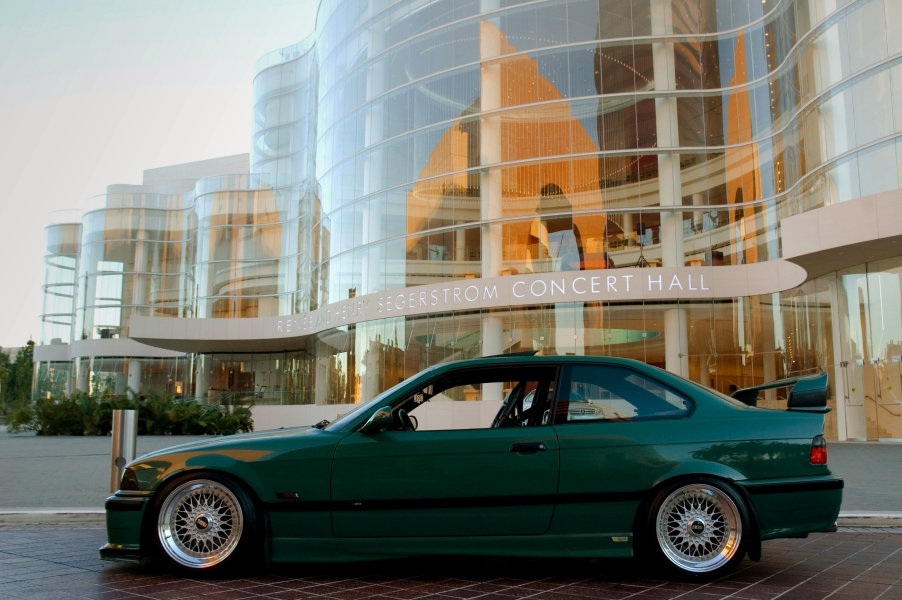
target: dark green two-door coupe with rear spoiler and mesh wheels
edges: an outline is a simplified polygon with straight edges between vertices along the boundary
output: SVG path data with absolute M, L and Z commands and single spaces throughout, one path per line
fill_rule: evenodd
M 607 357 L 440 364 L 333 423 L 133 461 L 106 502 L 100 554 L 187 571 L 641 555 L 719 575 L 758 560 L 762 540 L 833 529 L 842 499 L 826 376 L 796 383 L 787 410 L 753 406 L 758 389 L 740 402 Z

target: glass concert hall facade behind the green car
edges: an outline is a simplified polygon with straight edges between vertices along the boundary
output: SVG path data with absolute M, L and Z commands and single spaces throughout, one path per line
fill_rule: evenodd
M 258 63 L 252 175 L 143 233 L 84 222 L 73 334 L 165 349 L 179 393 L 260 423 L 537 350 L 724 392 L 826 372 L 831 437 L 902 439 L 899 22 L 894 0 L 322 0 Z M 140 250 L 153 227 L 178 268 Z

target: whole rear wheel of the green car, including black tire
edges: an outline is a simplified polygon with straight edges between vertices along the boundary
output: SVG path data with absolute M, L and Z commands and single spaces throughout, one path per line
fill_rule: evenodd
M 672 571 L 715 577 L 735 569 L 750 532 L 747 509 L 725 485 L 702 479 L 663 490 L 652 503 L 648 542 Z

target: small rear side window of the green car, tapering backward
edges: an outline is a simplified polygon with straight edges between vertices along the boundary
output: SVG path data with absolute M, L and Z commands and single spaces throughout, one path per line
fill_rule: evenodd
M 569 369 L 555 409 L 555 423 L 672 419 L 685 416 L 689 400 L 650 377 L 608 365 Z

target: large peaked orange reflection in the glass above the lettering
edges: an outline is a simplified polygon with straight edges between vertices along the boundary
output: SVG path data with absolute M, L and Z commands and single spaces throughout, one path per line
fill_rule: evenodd
M 496 101 L 500 100 L 495 105 L 500 108 L 488 110 L 494 101 L 482 98 L 478 106 L 464 111 L 441 137 L 420 172 L 419 181 L 407 196 L 408 233 L 483 218 L 481 210 L 485 200 L 480 196 L 486 190 L 480 188 L 480 175 L 467 169 L 472 170 L 483 162 L 481 148 L 495 144 L 489 150 L 493 154 L 492 162 L 530 161 L 505 167 L 488 165 L 488 169 L 497 169 L 500 174 L 501 217 L 601 207 L 598 146 L 571 114 L 570 103 L 553 82 L 539 74 L 535 60 L 527 55 L 510 56 L 518 50 L 495 25 L 483 21 L 480 36 L 483 44 L 488 41 L 485 45 L 497 49 L 499 57 L 483 63 L 482 93 L 494 90 Z M 479 110 L 486 112 L 475 115 Z M 487 127 L 489 122 L 491 125 Z M 481 140 L 482 135 L 495 136 L 495 140 Z M 587 156 L 572 157 L 580 154 Z M 541 158 L 545 160 L 539 162 L 537 159 Z M 549 189 L 563 199 L 549 202 Z M 573 226 L 582 242 L 603 239 L 605 233 L 605 219 L 599 219 L 597 213 L 592 217 L 574 217 Z M 535 219 L 505 224 L 503 259 L 541 256 L 541 229 L 542 223 Z M 452 236 L 447 237 L 451 240 Z M 436 242 L 435 238 L 409 236 L 408 258 L 478 259 L 478 240 L 466 241 L 467 244 L 475 242 L 473 248 L 451 248 L 443 247 L 450 241 Z M 463 244 L 465 240 L 458 242 Z

